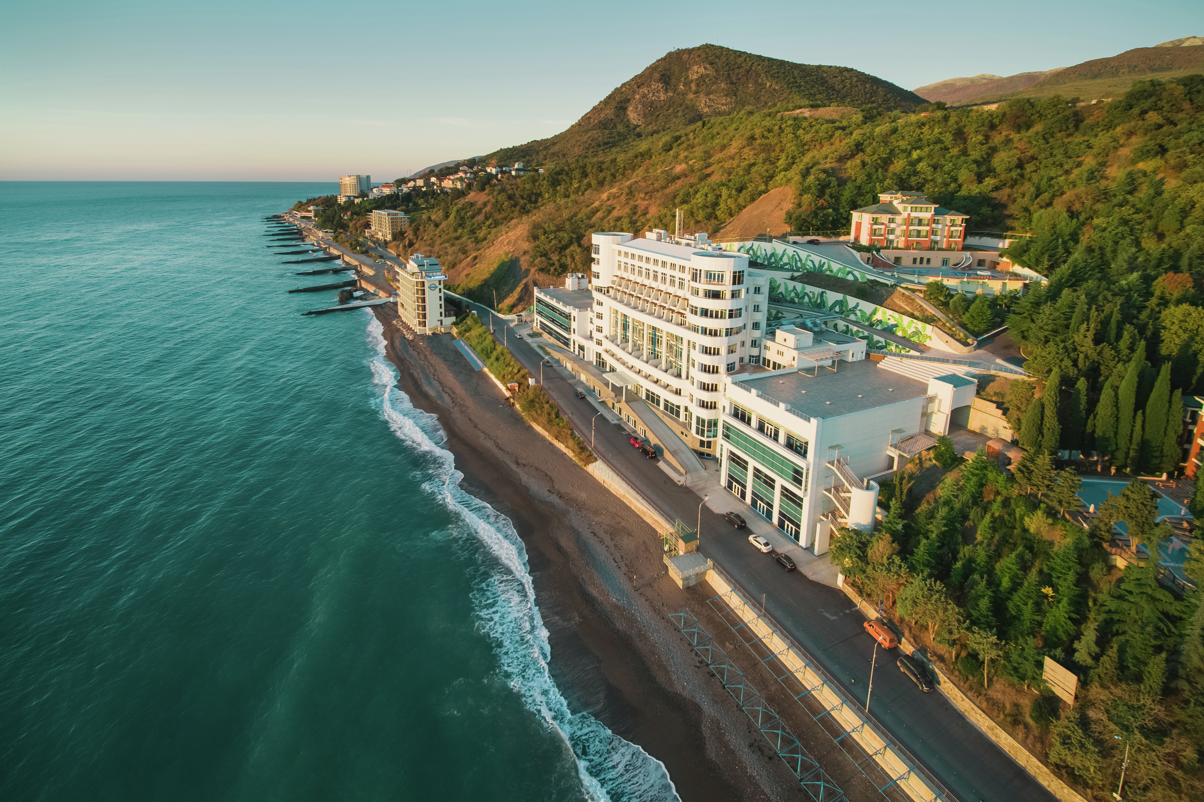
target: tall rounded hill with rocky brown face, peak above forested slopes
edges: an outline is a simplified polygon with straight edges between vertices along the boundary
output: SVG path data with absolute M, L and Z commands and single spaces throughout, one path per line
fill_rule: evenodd
M 598 153 L 712 117 L 801 106 L 908 111 L 923 98 L 858 70 L 795 64 L 718 45 L 673 51 L 612 92 L 567 130 L 486 159 L 544 163 Z

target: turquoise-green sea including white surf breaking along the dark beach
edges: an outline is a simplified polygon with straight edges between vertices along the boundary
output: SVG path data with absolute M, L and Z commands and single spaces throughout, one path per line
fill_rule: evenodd
M 0 798 L 675 800 L 371 312 L 285 293 L 335 190 L 0 183 Z

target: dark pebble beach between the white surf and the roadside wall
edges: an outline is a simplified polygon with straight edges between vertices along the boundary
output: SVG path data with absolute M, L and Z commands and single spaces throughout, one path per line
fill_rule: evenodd
M 706 594 L 667 577 L 651 527 L 535 432 L 450 337 L 408 340 L 386 307 L 373 312 L 397 385 L 438 417 L 461 485 L 526 546 L 553 676 L 573 710 L 661 761 L 683 800 L 792 797 L 797 780 L 754 747 L 761 736 L 680 648 L 666 615 Z

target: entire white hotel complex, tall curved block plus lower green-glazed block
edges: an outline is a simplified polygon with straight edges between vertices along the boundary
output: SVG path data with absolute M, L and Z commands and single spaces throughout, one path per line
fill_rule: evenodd
M 768 341 L 768 279 L 704 235 L 595 234 L 591 284 L 536 291 L 554 354 L 689 480 L 720 482 L 818 554 L 833 526 L 872 529 L 874 476 L 934 444 L 973 379 L 950 365 L 867 359 L 864 341 L 815 325 Z M 556 348 L 555 346 L 559 346 Z

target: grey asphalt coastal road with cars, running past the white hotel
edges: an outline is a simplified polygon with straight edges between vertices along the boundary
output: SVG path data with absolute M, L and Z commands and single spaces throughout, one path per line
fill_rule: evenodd
M 482 314 L 488 309 L 482 307 Z M 486 319 L 488 323 L 488 319 Z M 503 320 L 495 318 L 498 334 Z M 525 338 L 509 337 L 514 356 L 539 376 L 539 354 Z M 576 396 L 560 372 L 545 367 L 544 391 L 579 432 L 590 437 L 597 409 Z M 669 520 L 697 523 L 692 490 L 669 480 L 656 461 L 643 458 L 628 435 L 598 419 L 595 452 L 618 470 Z M 754 514 L 751 512 L 745 514 Z M 766 612 L 840 684 L 850 700 L 864 704 L 874 642 L 862 627 L 864 617 L 840 590 L 786 573 L 733 531 L 722 517 L 702 509 L 700 550 L 734 579 L 750 598 L 765 595 Z M 896 666 L 898 649 L 878 650 L 870 714 L 962 802 L 1052 801 L 1054 795 L 974 726 L 940 692 L 923 694 Z

